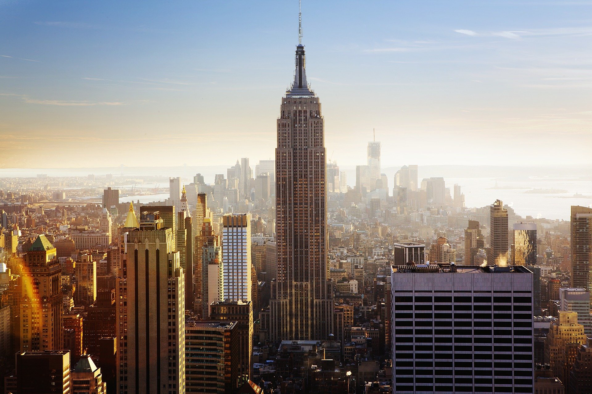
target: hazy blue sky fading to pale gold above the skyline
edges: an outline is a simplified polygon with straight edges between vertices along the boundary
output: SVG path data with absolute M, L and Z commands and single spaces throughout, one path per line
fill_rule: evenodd
M 297 43 L 295 0 L 0 0 L 0 167 L 273 158 Z M 303 44 L 337 164 L 592 164 L 592 1 L 303 0 Z

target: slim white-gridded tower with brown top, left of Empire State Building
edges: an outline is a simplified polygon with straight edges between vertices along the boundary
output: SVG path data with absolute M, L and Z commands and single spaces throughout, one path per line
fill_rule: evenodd
M 227 214 L 222 229 L 222 299 L 251 299 L 251 216 Z

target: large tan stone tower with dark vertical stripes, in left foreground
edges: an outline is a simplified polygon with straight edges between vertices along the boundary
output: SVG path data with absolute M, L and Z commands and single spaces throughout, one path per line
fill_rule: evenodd
M 155 207 L 152 207 L 155 208 Z M 157 207 L 156 207 L 157 208 Z M 125 276 L 116 297 L 120 394 L 185 392 L 185 279 L 159 211 L 141 211 L 139 228 L 122 236 Z M 123 340 L 122 340 L 123 338 Z

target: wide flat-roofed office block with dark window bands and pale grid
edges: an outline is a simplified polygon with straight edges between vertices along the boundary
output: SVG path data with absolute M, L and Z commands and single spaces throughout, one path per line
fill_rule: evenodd
M 394 393 L 532 393 L 532 272 L 392 266 Z

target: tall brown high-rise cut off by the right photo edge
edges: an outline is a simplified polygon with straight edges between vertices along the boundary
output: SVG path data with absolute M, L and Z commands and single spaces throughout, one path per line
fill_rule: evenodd
M 592 291 L 592 208 L 571 207 L 571 286 Z

